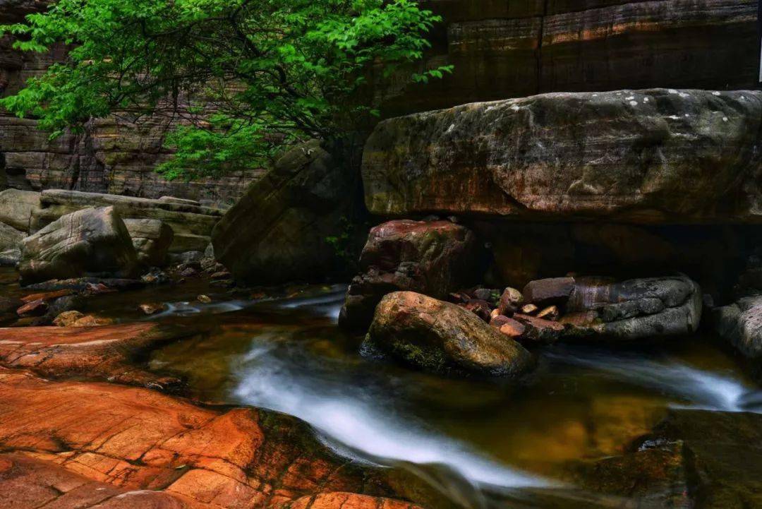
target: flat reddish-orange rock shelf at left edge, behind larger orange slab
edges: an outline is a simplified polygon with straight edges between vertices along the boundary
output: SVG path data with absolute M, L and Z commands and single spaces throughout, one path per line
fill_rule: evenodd
M 179 381 L 133 366 L 137 354 L 190 335 L 179 327 L 140 322 L 101 327 L 0 328 L 0 365 L 43 376 L 110 379 L 130 385 L 168 386 Z

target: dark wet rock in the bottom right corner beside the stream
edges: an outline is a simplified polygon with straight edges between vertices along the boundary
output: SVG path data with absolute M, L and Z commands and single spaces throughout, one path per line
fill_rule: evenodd
M 671 410 L 623 456 L 604 459 L 589 488 L 638 507 L 762 507 L 762 415 Z

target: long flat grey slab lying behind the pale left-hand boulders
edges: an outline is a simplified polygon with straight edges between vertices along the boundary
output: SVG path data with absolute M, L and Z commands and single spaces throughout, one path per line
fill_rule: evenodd
M 174 238 L 170 252 L 203 251 L 212 229 L 223 211 L 201 206 L 191 200 L 148 199 L 116 194 L 84 193 L 51 189 L 40 194 L 40 209 L 34 210 L 31 231 L 35 232 L 59 217 L 91 206 L 113 206 L 123 219 L 155 219 L 165 222 Z

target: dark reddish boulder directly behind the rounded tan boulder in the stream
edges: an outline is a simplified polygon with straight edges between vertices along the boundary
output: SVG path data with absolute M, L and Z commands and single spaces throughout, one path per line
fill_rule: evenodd
M 470 283 L 475 235 L 449 221 L 395 220 L 370 230 L 360 274 L 347 290 L 339 323 L 366 328 L 387 293 L 408 290 L 443 299 Z

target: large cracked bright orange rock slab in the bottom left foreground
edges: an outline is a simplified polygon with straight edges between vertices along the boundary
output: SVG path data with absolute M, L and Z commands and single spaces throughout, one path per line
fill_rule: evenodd
M 331 453 L 293 418 L 200 408 L 149 389 L 51 382 L 23 370 L 0 368 L 0 449 L 15 453 L 0 456 L 0 497 L 9 487 L 40 488 L 34 475 L 12 475 L 8 461 L 24 463 L 22 472 L 40 466 L 16 459 L 23 455 L 62 478 L 53 485 L 84 485 L 83 500 L 93 482 L 120 495 L 157 493 L 104 507 L 415 507 L 387 501 L 393 494 L 379 472 Z M 39 507 L 33 502 L 16 507 Z

